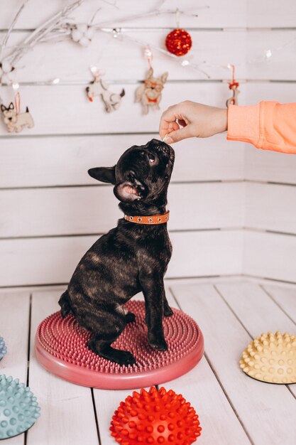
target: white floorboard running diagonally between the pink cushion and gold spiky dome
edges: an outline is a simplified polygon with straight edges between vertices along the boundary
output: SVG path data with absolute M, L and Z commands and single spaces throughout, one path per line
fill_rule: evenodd
M 241 293 L 240 284 L 234 288 Z M 253 444 L 294 444 L 295 399 L 285 386 L 263 384 L 241 372 L 239 358 L 251 336 L 224 299 L 212 285 L 178 285 L 172 291 L 201 326 L 207 357 Z

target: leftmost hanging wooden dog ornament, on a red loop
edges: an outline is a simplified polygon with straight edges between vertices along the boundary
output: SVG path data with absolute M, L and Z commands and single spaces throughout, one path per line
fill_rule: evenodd
M 1 104 L 1 112 L 4 118 L 4 124 L 9 131 L 9 133 L 19 133 L 24 128 L 33 128 L 34 121 L 31 113 L 26 107 L 26 112 L 20 113 L 21 109 L 21 97 L 20 93 L 17 92 L 14 98 L 14 104 L 11 102 L 9 107 Z

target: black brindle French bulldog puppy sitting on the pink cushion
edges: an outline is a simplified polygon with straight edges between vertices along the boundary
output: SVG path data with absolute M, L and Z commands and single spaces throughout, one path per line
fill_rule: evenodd
M 165 214 L 174 160 L 172 147 L 152 139 L 126 150 L 114 167 L 89 170 L 92 178 L 114 184 L 119 208 L 129 220 L 121 218 L 84 254 L 59 304 L 63 318 L 72 313 L 92 333 L 89 348 L 119 365 L 136 363 L 130 352 L 111 343 L 135 320 L 124 304 L 140 291 L 148 342 L 156 350 L 168 348 L 163 335 L 163 316 L 172 315 L 163 284 L 172 253 L 167 223 L 143 225 L 129 217 Z

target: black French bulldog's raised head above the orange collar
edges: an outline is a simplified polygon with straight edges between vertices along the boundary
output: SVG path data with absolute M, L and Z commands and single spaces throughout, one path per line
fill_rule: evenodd
M 174 166 L 175 153 L 165 142 L 152 139 L 146 145 L 126 150 L 114 167 L 97 167 L 89 175 L 114 184 L 114 194 L 122 210 L 148 210 L 167 203 L 168 184 Z

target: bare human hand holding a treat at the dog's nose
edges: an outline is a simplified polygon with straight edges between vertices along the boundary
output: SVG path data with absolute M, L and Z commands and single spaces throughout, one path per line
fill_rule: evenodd
M 191 100 L 172 105 L 160 118 L 159 134 L 167 144 L 188 137 L 209 137 L 227 129 L 227 109 Z

